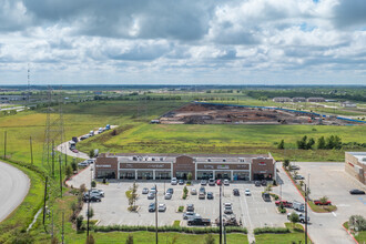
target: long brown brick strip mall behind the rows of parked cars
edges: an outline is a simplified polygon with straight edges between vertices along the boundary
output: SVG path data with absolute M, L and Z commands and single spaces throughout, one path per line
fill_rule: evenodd
M 272 180 L 276 162 L 268 154 L 112 154 L 96 157 L 96 179 L 120 180 L 193 180 L 228 179 L 231 181 Z

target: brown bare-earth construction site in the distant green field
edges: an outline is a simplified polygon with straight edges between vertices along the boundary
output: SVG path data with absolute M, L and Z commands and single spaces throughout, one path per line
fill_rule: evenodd
M 152 122 L 162 124 L 314 124 L 349 125 L 363 122 L 282 108 L 189 103 Z

